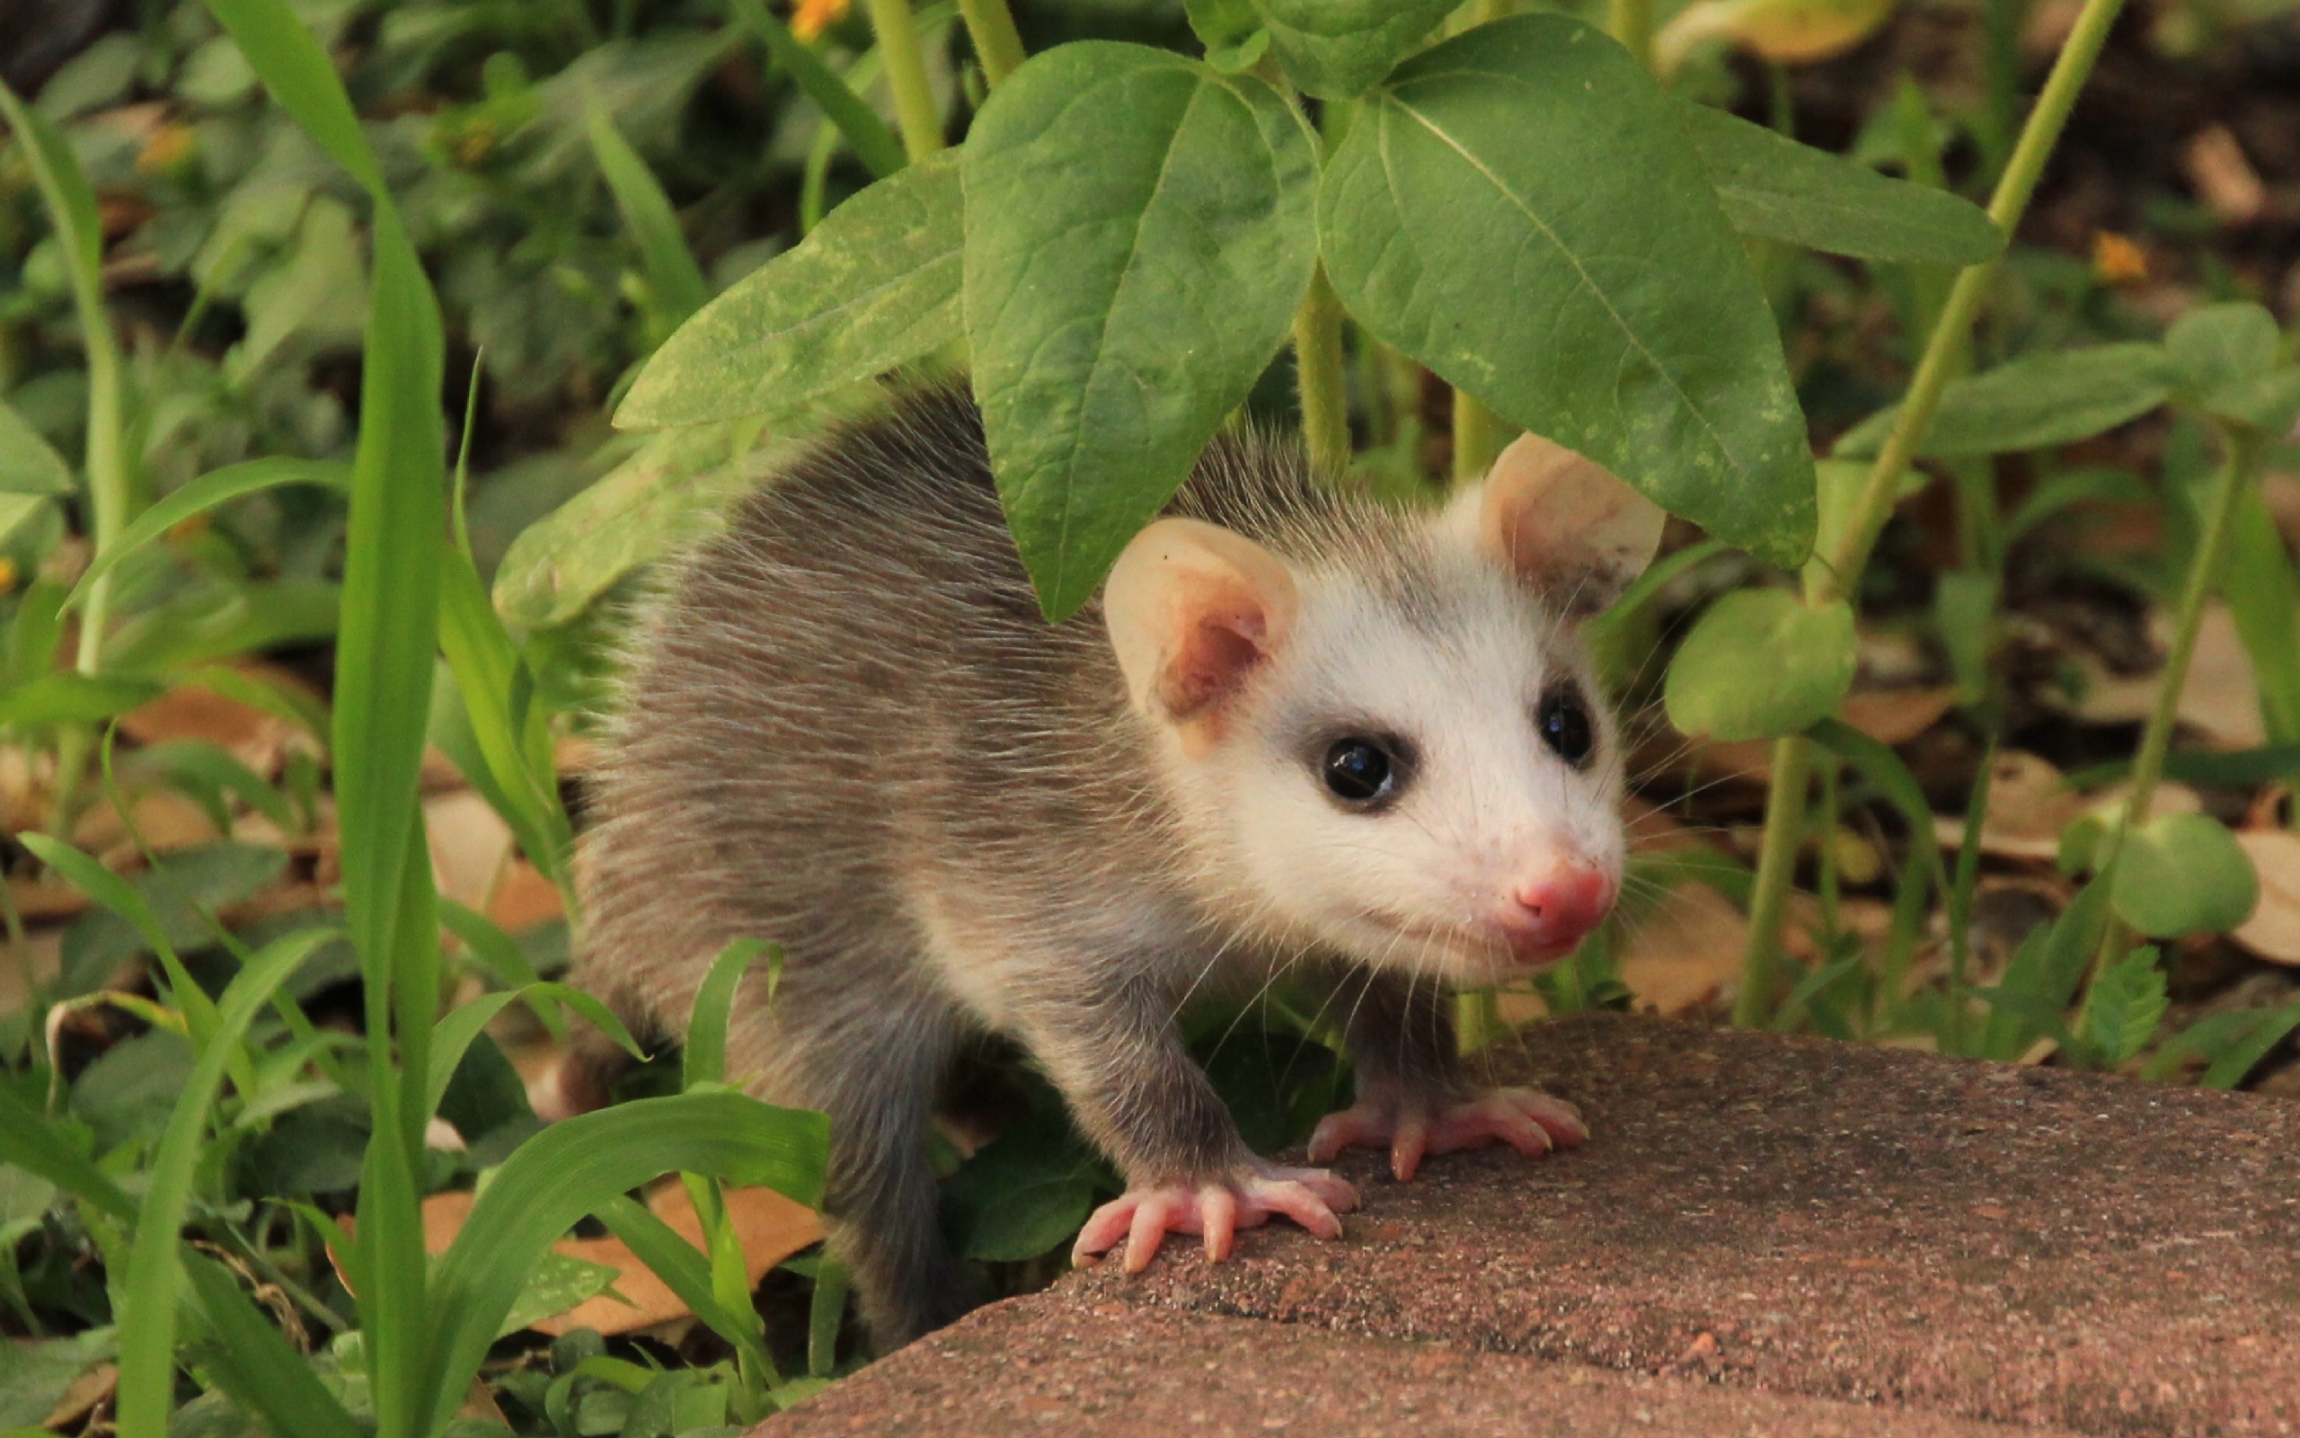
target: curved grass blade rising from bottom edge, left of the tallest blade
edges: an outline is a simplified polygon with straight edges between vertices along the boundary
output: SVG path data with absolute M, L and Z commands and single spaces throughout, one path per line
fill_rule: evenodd
M 175 1408 L 175 1321 L 184 1284 L 179 1233 L 191 1206 L 191 1180 L 200 1164 L 207 1123 L 223 1088 L 223 1063 L 239 1047 L 255 1010 L 329 936 L 301 930 L 267 943 L 255 962 L 232 978 L 218 1005 L 216 1035 L 191 1068 L 184 1093 L 152 1153 L 150 1185 L 136 1215 L 136 1245 L 120 1286 L 120 1433 L 166 1438 Z

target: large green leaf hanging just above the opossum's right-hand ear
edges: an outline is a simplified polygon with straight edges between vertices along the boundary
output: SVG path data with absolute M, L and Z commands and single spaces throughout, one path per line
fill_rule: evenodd
M 1366 329 L 1511 423 L 1796 564 L 1805 421 L 1677 115 L 1580 21 L 1479 25 L 1364 99 L 1318 200 L 1327 274 Z

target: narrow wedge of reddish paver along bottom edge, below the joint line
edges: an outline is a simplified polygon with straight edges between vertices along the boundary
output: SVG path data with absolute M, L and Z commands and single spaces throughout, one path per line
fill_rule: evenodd
M 2006 1438 L 1939 1413 L 1608 1374 L 1040 1293 L 865 1369 L 759 1438 Z

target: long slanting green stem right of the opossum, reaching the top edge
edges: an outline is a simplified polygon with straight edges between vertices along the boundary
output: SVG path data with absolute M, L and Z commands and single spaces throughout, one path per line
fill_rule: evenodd
M 2084 12 L 2077 16 L 2075 30 L 2068 32 L 2068 44 L 2061 46 L 2061 58 L 2045 81 L 2045 92 L 2038 94 L 2035 108 L 2029 113 L 2029 124 L 2022 127 L 2019 145 L 2015 145 L 2012 159 L 1996 182 L 1996 193 L 1989 198 L 1989 219 L 1996 221 L 2008 244 L 2019 228 L 2022 214 L 2029 209 L 2029 198 L 2045 173 L 2045 161 L 2052 156 L 2052 147 L 2068 124 L 2068 113 L 2077 104 L 2077 92 L 2084 90 L 2084 81 L 2093 74 L 2093 62 L 2100 58 L 2100 46 L 2107 44 L 2109 28 L 2116 23 L 2121 9 L 2123 0 L 2084 0 Z M 1805 603 L 1826 605 L 1845 601 L 1858 589 L 1870 550 L 1874 550 L 1877 536 L 1884 534 L 1884 522 L 1893 513 L 1900 479 L 1916 458 L 1925 430 L 1932 428 L 1932 414 L 1941 405 L 1941 389 L 1964 357 L 1973 318 L 1980 313 L 1980 301 L 1987 297 L 2001 262 L 1999 255 L 1957 274 L 1957 283 L 1948 290 L 1948 301 L 1932 324 L 1932 336 L 1925 341 L 1925 354 L 1916 366 L 1916 377 L 1909 382 L 1909 398 L 1902 403 L 1900 416 L 1893 421 L 1893 433 L 1886 437 L 1884 451 L 1861 485 L 1851 520 L 1831 552 L 1805 566 Z M 1810 752 L 1801 736 L 1792 734 L 1773 745 L 1773 789 L 1766 796 L 1766 833 L 1755 890 L 1750 893 L 1748 950 L 1741 957 L 1741 999 L 1734 1005 L 1734 1022 L 1741 1026 L 1764 1024 L 1773 980 L 1780 969 L 1780 920 L 1796 860 L 1796 835 L 1778 833 L 1778 828 L 1801 826 L 1808 771 Z M 1978 824 L 1980 817 L 1973 814 L 1969 821 Z

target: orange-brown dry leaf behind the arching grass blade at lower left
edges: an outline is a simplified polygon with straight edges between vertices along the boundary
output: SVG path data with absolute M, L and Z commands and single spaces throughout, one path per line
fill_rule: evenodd
M 695 1215 L 695 1203 L 688 1199 L 683 1183 L 665 1183 L 656 1187 L 656 1192 L 649 1194 L 646 1206 L 656 1213 L 656 1217 L 669 1224 L 674 1233 L 688 1242 L 702 1242 L 704 1226 Z M 446 1252 L 455 1236 L 462 1233 L 462 1224 L 469 1215 L 471 1194 L 453 1192 L 423 1199 L 423 1249 L 432 1254 Z M 791 1254 L 821 1242 L 823 1238 L 823 1219 L 812 1208 L 793 1203 L 768 1187 L 727 1190 L 727 1217 L 734 1222 L 736 1236 L 743 1240 L 743 1270 L 750 1275 L 752 1284 L 757 1284 L 775 1263 L 782 1263 Z M 566 1314 L 536 1323 L 536 1332 L 559 1337 L 561 1332 L 575 1328 L 593 1328 L 603 1334 L 616 1334 L 688 1316 L 688 1305 L 678 1302 L 669 1286 L 639 1263 L 621 1240 L 564 1238 L 552 1247 L 570 1259 L 616 1270 L 619 1277 L 614 1279 L 614 1291 L 630 1302 L 621 1302 L 614 1295 L 603 1293 L 568 1309 Z

